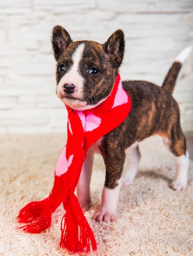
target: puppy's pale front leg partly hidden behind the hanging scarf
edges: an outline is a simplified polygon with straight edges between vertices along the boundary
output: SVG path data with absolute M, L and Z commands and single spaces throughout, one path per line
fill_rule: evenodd
M 78 184 L 76 186 L 78 202 L 83 212 L 88 211 L 89 204 L 91 203 L 90 182 L 93 168 L 93 158 L 94 153 L 91 149 L 89 149 L 87 152 L 87 156 L 84 160 L 84 164 L 82 166 L 82 171 L 80 173 Z

